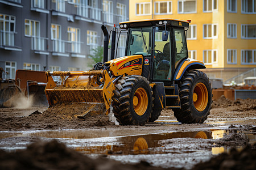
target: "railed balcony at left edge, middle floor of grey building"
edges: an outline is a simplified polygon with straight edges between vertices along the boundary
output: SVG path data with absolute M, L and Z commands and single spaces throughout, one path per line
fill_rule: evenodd
M 14 35 L 16 32 L 0 31 L 0 48 L 5 50 L 22 51 L 21 48 L 14 45 Z

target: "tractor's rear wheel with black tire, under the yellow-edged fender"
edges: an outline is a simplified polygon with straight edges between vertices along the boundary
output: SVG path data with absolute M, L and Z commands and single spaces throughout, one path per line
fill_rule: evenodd
M 178 84 L 181 109 L 173 109 L 177 121 L 203 123 L 212 108 L 212 87 L 207 75 L 202 71 L 189 70 Z

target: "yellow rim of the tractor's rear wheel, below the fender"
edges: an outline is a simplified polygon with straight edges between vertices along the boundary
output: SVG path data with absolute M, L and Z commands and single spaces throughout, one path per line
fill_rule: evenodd
M 197 111 L 203 112 L 208 103 L 207 87 L 204 83 L 197 83 L 193 91 L 193 103 Z

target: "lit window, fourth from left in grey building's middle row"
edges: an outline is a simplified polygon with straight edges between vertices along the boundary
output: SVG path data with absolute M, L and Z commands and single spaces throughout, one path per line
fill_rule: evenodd
M 68 27 L 68 41 L 71 42 L 72 53 L 81 53 L 79 28 Z

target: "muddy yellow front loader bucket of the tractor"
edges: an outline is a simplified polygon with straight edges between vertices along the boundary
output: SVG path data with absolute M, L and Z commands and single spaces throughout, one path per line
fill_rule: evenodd
M 108 114 L 109 105 L 106 107 L 103 88 L 90 78 L 90 76 L 101 74 L 101 71 L 47 71 L 48 82 L 45 92 L 49 106 L 61 103 L 82 103 L 85 112 L 77 114 L 79 118 L 92 114 Z M 57 86 L 52 75 L 63 76 L 61 78 L 63 82 Z

